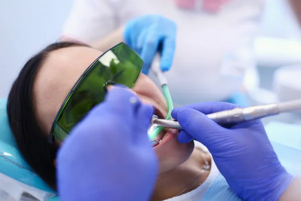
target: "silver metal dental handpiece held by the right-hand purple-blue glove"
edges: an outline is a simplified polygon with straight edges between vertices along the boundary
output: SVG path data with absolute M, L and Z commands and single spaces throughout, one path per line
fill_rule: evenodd
M 268 116 L 278 115 L 301 110 L 301 99 L 280 104 L 268 104 L 248 108 L 235 108 L 207 115 L 207 117 L 219 125 L 234 125 L 249 120 L 261 119 Z M 175 120 L 159 119 L 154 115 L 152 124 L 170 129 L 182 129 L 179 122 Z

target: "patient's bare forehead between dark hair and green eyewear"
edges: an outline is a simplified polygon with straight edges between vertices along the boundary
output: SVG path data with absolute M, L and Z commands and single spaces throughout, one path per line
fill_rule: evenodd
M 51 52 L 41 66 L 34 85 L 38 120 L 50 132 L 54 118 L 78 78 L 101 52 L 85 46 Z

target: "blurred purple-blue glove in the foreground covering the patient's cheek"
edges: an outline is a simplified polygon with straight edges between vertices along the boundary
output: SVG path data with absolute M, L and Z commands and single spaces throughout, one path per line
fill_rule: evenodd
M 132 92 L 110 90 L 59 150 L 61 200 L 148 200 L 158 171 L 147 137 L 153 113 Z

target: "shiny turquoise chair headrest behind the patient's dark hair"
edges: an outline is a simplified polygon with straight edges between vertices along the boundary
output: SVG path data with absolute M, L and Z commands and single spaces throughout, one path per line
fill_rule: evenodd
M 55 193 L 19 152 L 8 122 L 7 99 L 0 99 L 0 172 L 27 185 Z

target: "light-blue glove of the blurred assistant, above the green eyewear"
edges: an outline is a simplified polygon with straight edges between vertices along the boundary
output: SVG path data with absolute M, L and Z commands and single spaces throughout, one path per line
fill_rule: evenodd
M 159 15 L 145 15 L 126 24 L 124 40 L 143 59 L 144 74 L 148 74 L 160 44 L 161 69 L 168 71 L 171 68 L 176 48 L 176 32 L 175 22 Z

